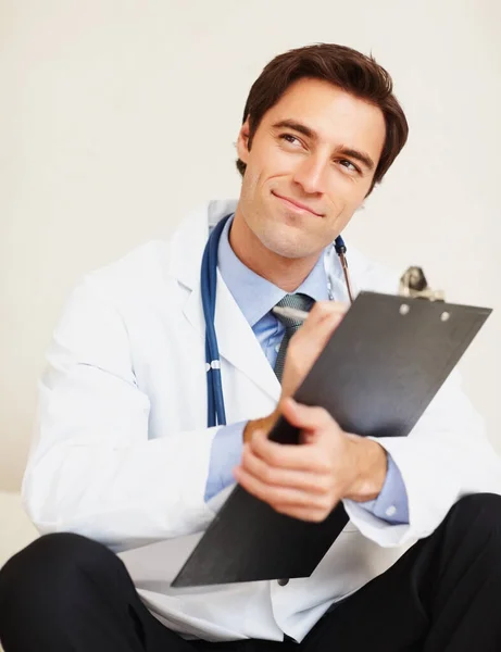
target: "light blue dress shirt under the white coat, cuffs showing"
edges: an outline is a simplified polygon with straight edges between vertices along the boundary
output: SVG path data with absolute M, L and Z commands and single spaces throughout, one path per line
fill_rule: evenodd
M 249 269 L 236 256 L 228 238 L 231 222 L 233 218 L 228 220 L 221 235 L 217 252 L 220 272 L 270 364 L 274 367 L 285 328 L 271 311 L 287 292 Z M 323 256 L 320 256 L 318 262 L 296 292 L 308 294 L 315 301 L 328 299 Z M 217 430 L 211 450 L 205 501 L 235 481 L 233 469 L 240 463 L 246 424 L 247 422 L 240 422 Z M 379 496 L 375 500 L 359 504 L 387 523 L 409 523 L 405 485 L 389 453 L 386 480 Z

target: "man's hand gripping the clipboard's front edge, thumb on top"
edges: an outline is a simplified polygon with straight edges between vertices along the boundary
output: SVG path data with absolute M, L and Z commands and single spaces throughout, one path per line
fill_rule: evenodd
M 262 419 L 264 427 L 252 430 L 234 472 L 249 493 L 277 512 L 313 522 L 324 521 L 343 498 L 365 501 L 379 494 L 387 469 L 383 447 L 345 432 L 322 408 L 288 398 L 280 401 L 280 413 L 301 429 L 302 443 L 271 441 L 274 421 Z

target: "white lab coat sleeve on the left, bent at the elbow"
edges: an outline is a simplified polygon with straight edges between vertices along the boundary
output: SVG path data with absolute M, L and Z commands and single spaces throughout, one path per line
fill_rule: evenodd
M 217 428 L 148 439 L 150 403 L 135 380 L 127 329 L 88 280 L 66 304 L 48 363 L 22 487 L 40 532 L 74 531 L 125 550 L 205 529 Z

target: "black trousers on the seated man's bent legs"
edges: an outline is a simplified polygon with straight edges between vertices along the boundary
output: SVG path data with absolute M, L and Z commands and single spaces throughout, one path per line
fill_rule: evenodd
M 459 501 L 299 644 L 185 641 L 148 612 L 116 555 L 48 535 L 0 572 L 0 640 L 5 652 L 501 651 L 501 497 Z

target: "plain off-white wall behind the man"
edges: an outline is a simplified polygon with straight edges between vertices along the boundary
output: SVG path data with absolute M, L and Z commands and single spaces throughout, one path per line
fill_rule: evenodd
M 501 449 L 498 0 L 0 0 L 0 488 L 18 487 L 36 380 L 86 271 L 238 193 L 248 89 L 316 41 L 391 72 L 410 142 L 348 242 L 497 308 L 462 364 Z M 388 249 L 383 251 L 380 243 Z

